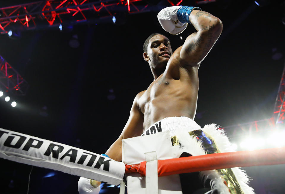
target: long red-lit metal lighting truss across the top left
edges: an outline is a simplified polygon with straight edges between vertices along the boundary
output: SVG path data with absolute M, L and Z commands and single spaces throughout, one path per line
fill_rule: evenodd
M 148 4 L 143 0 L 47 0 L 0 8 L 0 33 L 6 34 L 12 23 L 21 30 L 39 25 L 59 26 L 61 23 L 90 22 L 120 13 L 145 12 Z M 14 25 L 15 26 L 15 25 Z

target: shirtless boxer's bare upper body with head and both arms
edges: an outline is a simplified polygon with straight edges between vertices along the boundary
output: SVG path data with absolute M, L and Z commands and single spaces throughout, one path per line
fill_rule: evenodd
M 198 69 L 221 35 L 223 25 L 219 18 L 210 13 L 197 7 L 190 8 L 167 7 L 162 14 L 169 20 L 166 22 L 181 22 L 181 26 L 191 23 L 197 30 L 187 37 L 183 46 L 172 52 L 169 39 L 162 34 L 152 34 L 145 40 L 143 58 L 151 68 L 153 82 L 134 98 L 126 126 L 105 153 L 111 159 L 122 160 L 122 139 L 142 135 L 159 120 L 167 117 L 194 119 L 199 89 Z M 175 21 L 179 11 L 179 21 Z M 92 185 L 99 184 L 93 181 Z

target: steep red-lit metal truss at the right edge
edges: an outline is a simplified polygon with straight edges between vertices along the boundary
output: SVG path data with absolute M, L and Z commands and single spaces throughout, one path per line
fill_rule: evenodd
M 277 126 L 285 128 L 285 66 L 283 69 L 278 94 L 275 101 L 273 117 Z

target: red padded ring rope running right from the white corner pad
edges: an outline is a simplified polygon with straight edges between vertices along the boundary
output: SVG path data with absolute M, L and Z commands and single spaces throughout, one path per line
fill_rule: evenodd
M 181 174 L 221 168 L 274 165 L 285 163 L 285 147 L 253 151 L 225 152 L 158 160 L 158 176 Z M 125 173 L 137 172 L 145 176 L 146 162 L 126 165 Z

